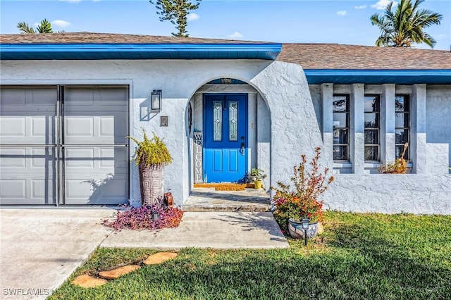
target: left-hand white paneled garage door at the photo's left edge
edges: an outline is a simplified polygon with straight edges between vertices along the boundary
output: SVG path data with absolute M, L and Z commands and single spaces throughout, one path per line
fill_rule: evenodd
M 56 87 L 1 88 L 1 204 L 56 204 L 57 98 Z

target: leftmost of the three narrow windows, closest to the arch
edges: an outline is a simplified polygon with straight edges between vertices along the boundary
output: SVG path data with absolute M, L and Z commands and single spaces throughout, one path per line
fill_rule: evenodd
M 350 96 L 333 95 L 333 160 L 350 160 Z

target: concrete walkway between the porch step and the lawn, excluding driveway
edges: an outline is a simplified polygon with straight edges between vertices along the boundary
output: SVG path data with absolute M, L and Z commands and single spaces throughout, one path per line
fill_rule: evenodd
M 177 228 L 114 232 L 100 246 L 153 249 L 289 247 L 272 213 L 249 212 L 187 212 Z

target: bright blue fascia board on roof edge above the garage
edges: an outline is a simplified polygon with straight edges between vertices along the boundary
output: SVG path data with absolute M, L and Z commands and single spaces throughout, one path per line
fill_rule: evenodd
M 27 59 L 32 59 L 30 56 L 33 54 L 40 55 L 42 52 L 45 52 L 48 56 L 61 53 L 165 54 L 177 52 L 180 54 L 196 54 L 214 52 L 216 54 L 254 53 L 259 58 L 275 60 L 280 51 L 282 51 L 282 44 L 0 44 L 2 56 L 16 57 L 23 54 L 27 56 Z M 265 55 L 262 55 L 263 53 Z

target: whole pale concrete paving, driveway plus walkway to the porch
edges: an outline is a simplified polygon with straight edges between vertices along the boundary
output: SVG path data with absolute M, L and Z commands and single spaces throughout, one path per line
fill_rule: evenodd
M 288 248 L 271 213 L 187 212 L 178 228 L 112 232 L 112 208 L 1 208 L 0 299 L 45 299 L 97 246 Z

